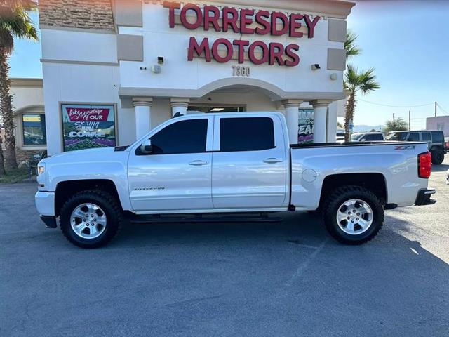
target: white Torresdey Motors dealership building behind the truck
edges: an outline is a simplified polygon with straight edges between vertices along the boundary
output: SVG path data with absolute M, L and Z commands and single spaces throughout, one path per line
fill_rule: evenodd
M 290 143 L 310 132 L 298 120 L 311 112 L 313 141 L 332 142 L 352 6 L 40 0 L 43 81 L 13 81 L 34 91 L 33 102 L 16 94 L 18 148 L 128 145 L 179 115 L 231 111 L 283 112 Z

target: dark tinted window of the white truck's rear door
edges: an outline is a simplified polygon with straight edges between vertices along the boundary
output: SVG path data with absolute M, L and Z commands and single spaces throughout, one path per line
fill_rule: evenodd
M 271 118 L 220 119 L 220 150 L 255 151 L 273 147 L 274 126 Z

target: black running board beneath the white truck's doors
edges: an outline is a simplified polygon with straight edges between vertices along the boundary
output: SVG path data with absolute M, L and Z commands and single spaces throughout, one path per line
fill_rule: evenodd
M 272 216 L 130 216 L 130 223 L 279 223 Z

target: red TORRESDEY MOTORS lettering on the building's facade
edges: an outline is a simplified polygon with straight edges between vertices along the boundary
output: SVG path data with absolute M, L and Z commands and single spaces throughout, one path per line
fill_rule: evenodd
M 169 8 L 168 21 L 170 28 L 175 27 L 175 10 L 181 8 L 177 2 L 164 1 L 163 6 Z M 182 26 L 187 29 L 198 29 L 203 27 L 205 31 L 214 29 L 215 32 L 232 31 L 238 34 L 258 34 L 282 36 L 288 34 L 289 37 L 303 37 L 304 33 L 298 31 L 302 24 L 307 26 L 309 39 L 314 37 L 314 30 L 320 17 L 311 18 L 307 14 L 293 13 L 287 16 L 281 12 L 255 11 L 253 9 L 242 8 L 237 11 L 236 8 L 217 6 L 203 6 L 201 9 L 196 4 L 185 4 L 180 11 L 180 20 Z M 219 53 L 220 46 L 225 46 L 225 55 Z M 288 44 L 284 46 L 278 42 L 266 44 L 264 41 L 250 41 L 245 39 L 216 39 L 212 46 L 207 37 L 200 42 L 196 37 L 190 37 L 189 51 L 187 60 L 192 61 L 194 55 L 204 57 L 206 62 L 214 59 L 217 62 L 225 63 L 232 60 L 234 55 L 234 46 L 237 47 L 239 63 L 245 60 L 246 48 L 248 49 L 248 58 L 255 65 L 268 63 L 269 65 L 283 65 L 295 67 L 300 63 L 300 56 L 297 51 L 300 50 L 298 44 Z M 257 53 L 261 51 L 261 53 Z M 220 55 L 221 54 L 221 55 Z

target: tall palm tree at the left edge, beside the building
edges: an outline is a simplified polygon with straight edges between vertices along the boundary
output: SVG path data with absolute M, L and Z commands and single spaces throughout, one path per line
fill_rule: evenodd
M 36 9 L 37 5 L 31 0 L 0 0 L 0 110 L 5 128 L 6 169 L 17 167 L 8 59 L 14 48 L 15 37 L 37 41 L 36 28 L 29 18 L 29 11 Z

